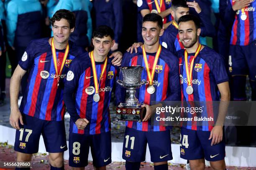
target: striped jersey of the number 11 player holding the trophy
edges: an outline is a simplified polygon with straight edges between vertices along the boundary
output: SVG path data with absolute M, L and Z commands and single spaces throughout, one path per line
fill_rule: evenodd
M 148 64 L 150 67 L 150 72 L 152 71 L 154 58 L 156 53 L 146 53 Z M 153 85 L 156 91 L 153 94 L 149 94 L 147 92 L 147 87 L 149 84 L 145 62 L 143 60 L 142 48 L 138 48 L 138 52 L 125 53 L 121 66 L 136 66 L 141 65 L 145 67 L 141 74 L 141 81 L 146 82 L 136 91 L 136 97 L 139 102 L 143 102 L 147 105 L 152 105 L 154 102 L 159 101 L 179 101 L 180 100 L 180 85 L 179 85 L 179 66 L 178 59 L 175 55 L 173 55 L 169 50 L 162 47 L 161 53 L 156 65 L 155 75 L 153 79 Z M 123 75 L 120 73 L 120 80 L 123 80 Z M 120 88 L 120 89 L 119 89 Z M 117 86 L 117 91 L 120 90 L 120 93 L 123 97 L 122 101 L 125 102 L 125 89 L 121 89 L 120 86 Z M 161 115 L 163 116 L 164 115 Z M 161 122 L 160 122 L 161 123 Z M 151 119 L 147 122 L 133 122 L 126 121 L 126 126 L 129 128 L 133 128 L 136 130 L 142 131 L 164 131 L 168 130 L 170 126 L 162 126 L 154 120 L 154 125 L 151 125 Z

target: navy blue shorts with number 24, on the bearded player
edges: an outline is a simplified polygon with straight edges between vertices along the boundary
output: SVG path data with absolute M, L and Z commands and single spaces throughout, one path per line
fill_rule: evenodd
M 208 161 L 225 158 L 225 136 L 223 140 L 211 146 L 210 131 L 181 128 L 180 158 L 185 160 L 206 159 Z

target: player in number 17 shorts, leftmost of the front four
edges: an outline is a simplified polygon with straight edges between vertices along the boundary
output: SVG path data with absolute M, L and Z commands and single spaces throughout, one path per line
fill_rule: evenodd
M 75 18 L 69 10 L 51 18 L 54 36 L 29 43 L 10 81 L 10 125 L 16 130 L 17 161 L 31 161 L 43 135 L 51 170 L 64 169 L 67 150 L 64 127 L 64 78 L 70 62 L 84 51 L 69 41 Z M 28 86 L 18 108 L 20 80 L 28 72 Z M 16 168 L 22 170 L 23 168 Z

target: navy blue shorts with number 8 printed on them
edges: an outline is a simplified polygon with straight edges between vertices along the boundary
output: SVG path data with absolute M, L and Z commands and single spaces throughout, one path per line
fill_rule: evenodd
M 69 132 L 69 166 L 77 168 L 87 166 L 90 147 L 95 167 L 111 163 L 110 131 L 96 135 Z

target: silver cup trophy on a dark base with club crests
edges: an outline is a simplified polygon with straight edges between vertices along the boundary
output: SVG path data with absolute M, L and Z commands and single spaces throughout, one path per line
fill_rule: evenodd
M 146 108 L 141 107 L 143 103 L 136 98 L 136 89 L 140 88 L 145 82 L 141 81 L 141 72 L 144 67 L 130 66 L 120 67 L 123 73 L 123 80 L 117 80 L 118 84 L 125 87 L 128 98 L 125 103 L 120 103 L 116 109 L 117 120 L 131 120 L 141 122 L 146 114 Z

